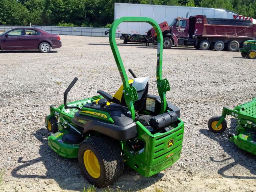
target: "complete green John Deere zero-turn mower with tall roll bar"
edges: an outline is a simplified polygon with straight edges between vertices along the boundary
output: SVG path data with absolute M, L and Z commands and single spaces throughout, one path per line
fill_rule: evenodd
M 128 80 L 115 41 L 122 22 L 147 22 L 157 33 L 156 84 L 158 94 L 148 94 L 148 77 Z M 46 117 L 48 144 L 57 154 L 78 158 L 82 174 L 91 184 L 106 187 L 123 173 L 124 164 L 145 177 L 174 164 L 182 149 L 184 122 L 180 109 L 166 101 L 170 90 L 162 78 L 163 37 L 155 20 L 122 17 L 110 27 L 109 42 L 122 86 L 114 96 L 98 90 L 98 95 L 66 103 L 74 78 L 64 93 L 64 104 L 50 106 Z

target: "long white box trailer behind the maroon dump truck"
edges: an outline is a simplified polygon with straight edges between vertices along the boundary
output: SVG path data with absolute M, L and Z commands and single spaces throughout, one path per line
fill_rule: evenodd
M 115 20 L 124 16 L 149 17 L 158 24 L 164 21 L 170 24 L 174 18 L 189 18 L 195 15 L 205 15 L 207 18 L 246 19 L 256 23 L 252 18 L 240 16 L 230 10 L 215 8 L 115 3 L 114 11 Z M 148 23 L 121 23 L 116 33 L 146 36 L 151 28 Z

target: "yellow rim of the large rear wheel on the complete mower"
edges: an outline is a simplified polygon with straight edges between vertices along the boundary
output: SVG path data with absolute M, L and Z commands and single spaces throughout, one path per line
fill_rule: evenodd
M 100 164 L 94 152 L 92 152 L 91 150 L 86 150 L 84 152 L 84 166 L 90 176 L 92 176 L 93 178 L 99 178 Z

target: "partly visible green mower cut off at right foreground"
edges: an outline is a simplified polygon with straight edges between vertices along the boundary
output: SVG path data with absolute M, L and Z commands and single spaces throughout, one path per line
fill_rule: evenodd
M 237 118 L 236 134 L 230 133 L 229 140 L 239 148 L 256 155 L 256 98 L 236 106 L 233 110 L 224 107 L 222 116 L 209 119 L 208 128 L 215 133 L 224 132 L 227 128 L 227 115 Z

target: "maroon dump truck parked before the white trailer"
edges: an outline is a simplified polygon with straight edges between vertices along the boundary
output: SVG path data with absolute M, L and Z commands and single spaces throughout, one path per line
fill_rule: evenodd
M 170 26 L 167 22 L 159 24 L 164 48 L 172 45 L 194 46 L 196 49 L 217 51 L 237 51 L 246 40 L 256 36 L 256 24 L 250 20 L 206 18 L 204 15 L 190 18 L 175 18 Z M 156 32 L 151 28 L 147 33 L 147 42 L 156 43 Z

